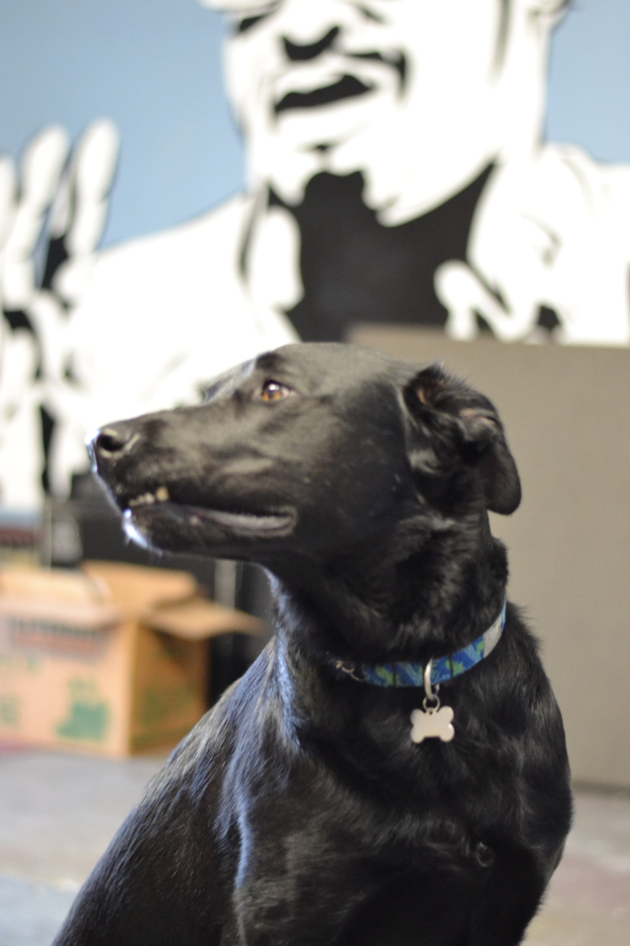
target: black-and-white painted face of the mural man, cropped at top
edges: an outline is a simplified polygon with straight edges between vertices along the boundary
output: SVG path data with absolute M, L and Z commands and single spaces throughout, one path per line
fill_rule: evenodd
M 318 170 L 359 169 L 383 222 L 410 219 L 495 159 L 508 99 L 520 121 L 532 111 L 514 89 L 519 74 L 536 98 L 518 56 L 530 0 L 206 3 L 230 7 L 228 85 L 250 184 L 286 201 Z

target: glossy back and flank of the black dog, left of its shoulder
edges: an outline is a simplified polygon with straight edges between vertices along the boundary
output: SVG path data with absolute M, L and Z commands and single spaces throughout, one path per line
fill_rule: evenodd
M 79 893 L 59 944 L 175 942 L 181 929 L 190 930 L 187 942 L 207 942 L 223 922 L 235 850 L 230 772 L 244 743 L 251 750 L 248 721 L 264 706 L 271 656 L 263 652 L 149 782 Z M 203 935 L 196 938 L 191 922 Z

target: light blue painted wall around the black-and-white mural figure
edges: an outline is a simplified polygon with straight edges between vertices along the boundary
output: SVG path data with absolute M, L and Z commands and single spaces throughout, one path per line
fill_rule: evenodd
M 106 242 L 213 206 L 243 181 L 222 30 L 196 0 L 0 0 L 0 149 L 19 154 L 51 122 L 77 135 L 113 118 L 123 152 Z M 630 163 L 630 0 L 576 0 L 558 27 L 548 136 Z

